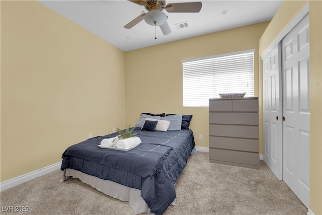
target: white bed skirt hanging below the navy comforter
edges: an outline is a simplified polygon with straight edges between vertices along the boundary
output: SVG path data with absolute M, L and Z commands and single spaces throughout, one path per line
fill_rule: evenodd
M 83 183 L 96 188 L 98 191 L 101 191 L 106 195 L 120 199 L 122 201 L 128 201 L 135 214 L 146 212 L 153 214 L 151 211 L 149 211 L 147 204 L 141 197 L 141 190 L 139 189 L 127 187 L 113 181 L 100 179 L 98 177 L 88 175 L 73 169 L 65 169 L 63 174 L 63 180 L 66 180 L 66 177 L 70 176 L 73 178 L 78 178 Z

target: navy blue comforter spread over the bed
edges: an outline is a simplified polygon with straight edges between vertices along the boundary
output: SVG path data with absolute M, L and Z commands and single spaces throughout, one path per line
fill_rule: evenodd
M 90 138 L 69 147 L 62 155 L 61 170 L 70 168 L 98 178 L 141 190 L 141 196 L 156 214 L 163 214 L 176 198 L 174 184 L 195 146 L 193 132 L 143 131 L 135 128 L 142 143 L 123 152 L 98 147 L 113 133 Z

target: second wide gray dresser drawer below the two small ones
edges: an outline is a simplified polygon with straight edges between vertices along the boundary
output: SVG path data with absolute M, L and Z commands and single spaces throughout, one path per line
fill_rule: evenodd
M 259 128 L 255 125 L 209 124 L 209 135 L 258 139 Z

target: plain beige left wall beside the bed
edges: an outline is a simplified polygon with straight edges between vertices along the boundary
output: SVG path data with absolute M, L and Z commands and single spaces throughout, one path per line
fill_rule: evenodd
M 37 1 L 1 1 L 1 181 L 125 125 L 125 54 Z

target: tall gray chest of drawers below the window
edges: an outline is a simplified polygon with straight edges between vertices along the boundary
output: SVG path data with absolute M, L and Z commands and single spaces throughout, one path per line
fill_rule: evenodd
M 209 162 L 259 169 L 257 97 L 209 99 Z

